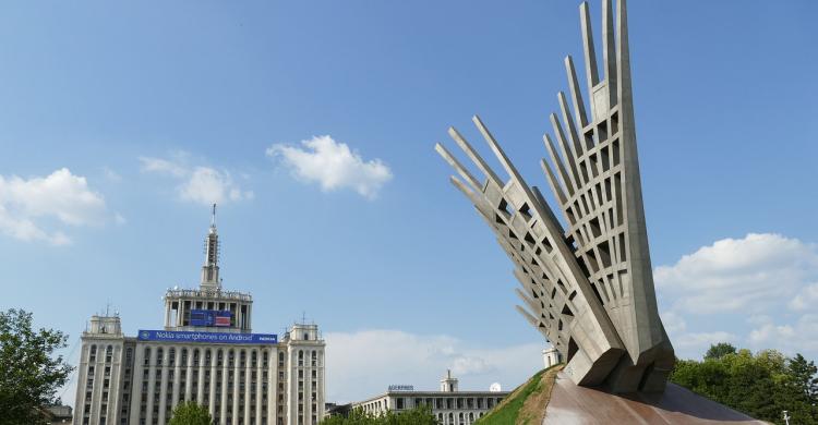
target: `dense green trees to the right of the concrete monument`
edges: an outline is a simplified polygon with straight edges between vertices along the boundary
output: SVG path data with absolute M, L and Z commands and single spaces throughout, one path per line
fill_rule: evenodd
M 710 347 L 705 360 L 682 360 L 671 381 L 758 420 L 818 425 L 818 368 L 797 354 L 789 359 L 775 350 L 753 354 L 730 344 Z

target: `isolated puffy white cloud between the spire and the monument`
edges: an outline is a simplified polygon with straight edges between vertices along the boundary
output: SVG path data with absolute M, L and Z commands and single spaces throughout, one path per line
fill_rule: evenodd
M 381 159 L 364 161 L 345 143 L 330 136 L 301 141 L 302 147 L 276 144 L 267 148 L 269 157 L 280 156 L 292 175 L 305 182 L 317 182 L 325 192 L 351 189 L 366 198 L 377 196 L 392 180 L 392 170 Z

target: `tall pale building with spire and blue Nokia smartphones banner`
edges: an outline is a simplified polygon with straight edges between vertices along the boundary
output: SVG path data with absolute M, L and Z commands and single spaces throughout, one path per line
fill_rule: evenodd
M 221 288 L 215 220 L 205 243 L 200 287 L 167 291 L 163 329 L 127 337 L 118 314 L 92 316 L 74 424 L 166 424 L 190 400 L 215 424 L 314 425 L 324 416 L 317 325 L 292 325 L 280 340 L 253 333 L 252 296 Z

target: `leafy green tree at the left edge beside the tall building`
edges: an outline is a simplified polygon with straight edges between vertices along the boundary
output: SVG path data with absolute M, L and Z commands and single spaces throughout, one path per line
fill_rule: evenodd
M 0 312 L 0 425 L 45 424 L 39 409 L 53 404 L 73 369 L 55 350 L 65 347 L 59 330 L 32 329 L 32 314 Z

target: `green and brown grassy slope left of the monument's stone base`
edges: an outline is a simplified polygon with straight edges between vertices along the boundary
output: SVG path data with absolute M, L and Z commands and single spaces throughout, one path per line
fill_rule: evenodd
M 517 387 L 502 403 L 481 417 L 474 425 L 534 425 L 542 424 L 545 405 L 551 399 L 558 364 L 538 372 L 526 384 Z

